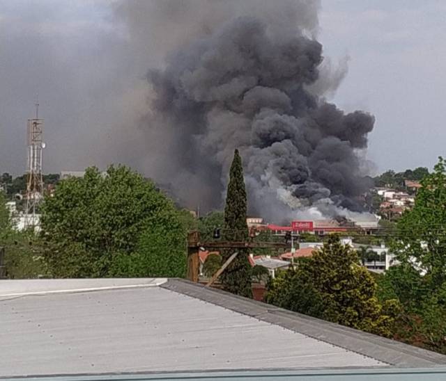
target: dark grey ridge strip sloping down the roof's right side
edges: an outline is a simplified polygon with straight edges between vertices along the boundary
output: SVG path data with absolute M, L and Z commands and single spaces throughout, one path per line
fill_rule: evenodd
M 279 325 L 334 346 L 377 359 L 391 366 L 421 368 L 446 365 L 446 356 L 436 352 L 298 314 L 263 302 L 256 302 L 222 290 L 210 289 L 184 279 L 169 279 L 160 287 Z

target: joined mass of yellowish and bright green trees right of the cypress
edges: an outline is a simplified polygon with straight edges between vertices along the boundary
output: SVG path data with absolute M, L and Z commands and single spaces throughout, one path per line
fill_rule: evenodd
M 423 177 L 415 206 L 388 233 L 394 266 L 372 275 L 331 236 L 268 285 L 266 301 L 446 354 L 446 163 Z

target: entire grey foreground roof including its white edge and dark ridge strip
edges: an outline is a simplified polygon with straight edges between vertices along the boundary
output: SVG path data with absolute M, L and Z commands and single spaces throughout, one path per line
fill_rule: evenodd
M 3 280 L 0 309 L 3 378 L 446 364 L 443 355 L 182 279 Z

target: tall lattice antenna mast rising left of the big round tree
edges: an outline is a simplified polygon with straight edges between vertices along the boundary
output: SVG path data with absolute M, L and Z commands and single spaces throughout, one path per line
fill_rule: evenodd
M 42 150 L 43 119 L 39 119 L 39 102 L 36 99 L 36 117 L 28 120 L 27 129 L 28 165 L 26 169 L 25 227 L 36 227 L 38 204 L 43 199 Z

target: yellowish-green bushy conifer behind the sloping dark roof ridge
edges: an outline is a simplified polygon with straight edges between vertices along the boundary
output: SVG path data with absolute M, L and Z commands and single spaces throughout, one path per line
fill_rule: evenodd
M 376 282 L 354 250 L 330 236 L 313 257 L 299 259 L 268 285 L 267 302 L 359 330 L 392 335 L 397 302 L 378 302 Z

